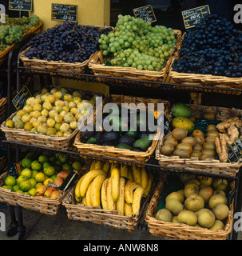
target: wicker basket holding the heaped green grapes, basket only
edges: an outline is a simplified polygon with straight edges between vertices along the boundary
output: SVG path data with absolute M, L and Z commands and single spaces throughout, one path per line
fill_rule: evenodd
M 177 38 L 177 50 L 180 49 L 181 45 L 181 31 L 173 30 Z M 175 56 L 175 55 L 174 55 Z M 150 70 L 137 70 L 133 67 L 120 67 L 120 66 L 105 66 L 105 58 L 103 57 L 102 50 L 98 51 L 94 56 L 91 62 L 89 62 L 89 68 L 93 70 L 93 74 L 105 76 L 105 77 L 114 77 L 114 78 L 127 78 L 127 79 L 138 79 L 145 81 L 162 81 L 166 72 L 169 70 L 171 63 L 173 61 L 173 55 L 169 56 L 169 60 L 166 62 L 165 68 L 161 71 L 150 71 Z M 108 78 L 97 78 L 102 82 L 108 80 Z M 132 81 L 126 81 L 133 83 Z M 154 85 L 153 85 L 154 86 Z

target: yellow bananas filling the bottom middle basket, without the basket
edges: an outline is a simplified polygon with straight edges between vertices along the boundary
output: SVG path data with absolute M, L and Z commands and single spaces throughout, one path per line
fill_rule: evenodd
M 152 188 L 153 175 L 144 167 L 123 166 L 93 161 L 75 187 L 77 203 L 100 206 L 104 210 L 119 210 L 121 215 L 136 217 L 141 198 Z

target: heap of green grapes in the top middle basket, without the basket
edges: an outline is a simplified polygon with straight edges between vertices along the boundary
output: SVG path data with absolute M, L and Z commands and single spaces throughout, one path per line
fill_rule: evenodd
M 112 66 L 160 71 L 173 53 L 177 39 L 172 28 L 151 26 L 141 18 L 120 14 L 115 32 L 101 34 L 98 42 Z

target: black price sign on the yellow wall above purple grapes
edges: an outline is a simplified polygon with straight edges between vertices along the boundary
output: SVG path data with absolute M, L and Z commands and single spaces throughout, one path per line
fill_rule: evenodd
M 77 22 L 77 6 L 52 4 L 51 19 L 53 21 Z

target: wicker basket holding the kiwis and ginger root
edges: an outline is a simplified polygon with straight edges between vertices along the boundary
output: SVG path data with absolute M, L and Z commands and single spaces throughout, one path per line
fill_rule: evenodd
M 188 105 L 197 118 L 201 118 L 205 111 L 210 111 L 215 115 L 216 120 L 225 121 L 228 118 L 238 117 L 242 118 L 242 110 L 229 109 L 220 106 L 201 106 L 201 105 Z M 171 114 L 169 116 L 172 119 Z M 165 156 L 161 154 L 161 147 L 164 143 L 164 135 L 161 137 L 157 144 L 156 159 L 161 166 L 168 166 L 173 169 L 196 170 L 214 174 L 225 174 L 235 176 L 242 166 L 242 159 L 238 162 L 220 162 L 220 160 L 202 161 L 197 158 L 179 158 L 178 156 Z

